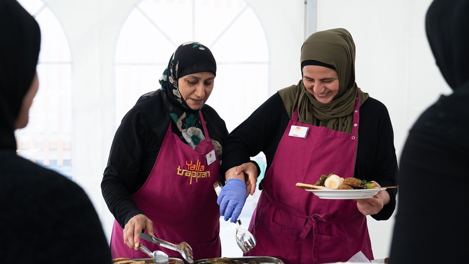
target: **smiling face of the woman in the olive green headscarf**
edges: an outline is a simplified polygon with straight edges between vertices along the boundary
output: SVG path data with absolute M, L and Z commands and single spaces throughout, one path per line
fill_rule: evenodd
M 319 65 L 306 65 L 302 71 L 304 87 L 319 102 L 329 103 L 339 92 L 339 77 L 335 70 Z

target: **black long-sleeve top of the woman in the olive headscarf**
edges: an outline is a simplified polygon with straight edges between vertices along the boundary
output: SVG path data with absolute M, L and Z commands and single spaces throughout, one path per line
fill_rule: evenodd
M 225 145 L 222 173 L 260 152 L 265 155 L 267 171 L 289 121 L 283 101 L 275 93 L 230 133 Z M 381 186 L 396 186 L 397 164 L 394 132 L 388 110 L 383 103 L 369 97 L 360 106 L 354 177 L 374 180 Z M 386 191 L 390 195 L 390 203 L 378 214 L 372 215 L 376 220 L 389 219 L 396 207 L 397 190 Z

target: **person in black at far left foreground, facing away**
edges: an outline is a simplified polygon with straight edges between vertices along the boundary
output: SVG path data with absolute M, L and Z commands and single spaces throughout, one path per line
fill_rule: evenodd
M 111 263 L 93 204 L 76 183 L 16 154 L 38 90 L 40 29 L 15 0 L 0 0 L 0 259 Z

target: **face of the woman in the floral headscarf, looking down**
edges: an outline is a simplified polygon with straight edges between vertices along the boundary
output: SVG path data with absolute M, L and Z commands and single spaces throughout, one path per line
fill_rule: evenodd
M 179 93 L 192 110 L 200 109 L 214 89 L 215 75 L 212 72 L 195 72 L 178 80 Z

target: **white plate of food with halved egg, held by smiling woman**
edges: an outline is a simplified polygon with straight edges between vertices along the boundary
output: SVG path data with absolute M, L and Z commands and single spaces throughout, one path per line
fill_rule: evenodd
M 343 179 L 332 173 L 322 175 L 315 184 L 296 183 L 296 187 L 321 199 L 365 199 L 387 189 L 353 177 Z

